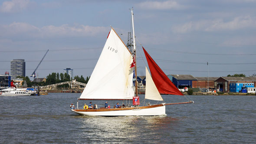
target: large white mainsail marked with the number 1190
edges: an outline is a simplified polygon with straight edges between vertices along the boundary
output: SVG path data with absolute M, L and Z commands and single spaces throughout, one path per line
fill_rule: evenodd
M 131 52 L 111 29 L 80 99 L 132 99 L 135 93 L 132 61 Z

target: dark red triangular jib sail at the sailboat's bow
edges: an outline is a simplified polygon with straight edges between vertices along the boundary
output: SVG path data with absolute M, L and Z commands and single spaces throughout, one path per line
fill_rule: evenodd
M 148 61 L 148 67 L 150 69 L 152 79 L 158 88 L 159 93 L 183 96 L 181 91 L 178 90 L 177 87 L 166 76 L 166 74 L 164 74 L 163 70 L 161 70 L 158 64 L 155 63 L 155 61 L 144 48 L 143 51 Z

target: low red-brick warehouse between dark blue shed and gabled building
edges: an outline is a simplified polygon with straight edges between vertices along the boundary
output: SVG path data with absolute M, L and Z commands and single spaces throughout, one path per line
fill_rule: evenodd
M 219 77 L 195 77 L 197 80 L 192 81 L 193 88 L 214 88 L 214 81 Z

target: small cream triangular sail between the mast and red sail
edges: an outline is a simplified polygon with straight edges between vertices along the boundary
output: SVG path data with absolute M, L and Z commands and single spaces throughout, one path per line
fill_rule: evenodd
M 145 99 L 159 100 L 163 101 L 162 96 L 158 92 L 157 87 L 154 84 L 154 81 L 149 74 L 148 68 L 146 67 L 146 90 L 145 90 Z

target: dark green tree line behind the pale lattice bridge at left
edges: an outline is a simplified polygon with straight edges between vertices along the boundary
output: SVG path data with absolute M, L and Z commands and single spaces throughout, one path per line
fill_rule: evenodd
M 66 81 L 70 81 L 70 76 L 67 73 L 52 73 L 49 74 L 46 77 L 46 82 L 34 82 L 34 81 L 30 81 L 30 78 L 28 76 L 26 77 L 22 77 L 22 76 L 18 76 L 17 78 L 22 78 L 23 82 L 22 85 L 24 84 L 24 81 L 26 81 L 26 84 L 28 87 L 32 87 L 32 86 L 47 86 L 50 84 L 55 84 L 55 83 L 62 83 L 62 82 L 66 82 Z M 86 77 L 86 79 L 81 75 L 81 77 L 79 76 L 75 76 L 74 79 L 72 80 L 76 80 L 80 83 L 88 83 L 90 77 Z M 68 84 L 66 85 L 60 85 L 58 87 L 67 87 L 69 86 Z

